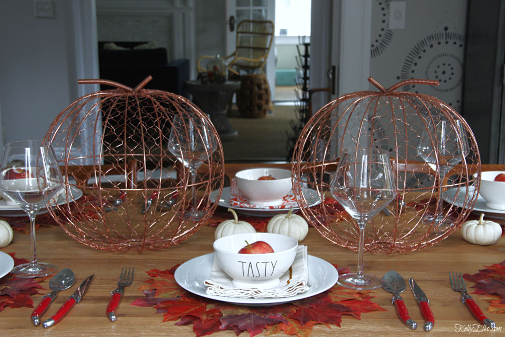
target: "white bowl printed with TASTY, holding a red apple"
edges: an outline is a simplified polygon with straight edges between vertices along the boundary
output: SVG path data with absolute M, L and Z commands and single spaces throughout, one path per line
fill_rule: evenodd
M 264 241 L 274 253 L 239 254 L 249 244 Z M 221 268 L 237 288 L 271 289 L 293 264 L 298 242 L 292 237 L 272 233 L 241 233 L 223 236 L 214 242 L 214 254 Z

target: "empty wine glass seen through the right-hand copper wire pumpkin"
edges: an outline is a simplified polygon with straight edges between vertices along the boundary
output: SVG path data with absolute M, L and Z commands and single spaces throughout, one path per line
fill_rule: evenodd
M 463 161 L 468 152 L 468 138 L 460 120 L 450 123 L 444 116 L 438 116 L 421 132 L 417 153 L 436 172 L 438 180 L 436 212 L 434 215 L 425 215 L 423 221 L 433 222 L 436 226 L 453 224 L 451 219 L 444 216 L 442 210 L 443 181 L 447 173 Z

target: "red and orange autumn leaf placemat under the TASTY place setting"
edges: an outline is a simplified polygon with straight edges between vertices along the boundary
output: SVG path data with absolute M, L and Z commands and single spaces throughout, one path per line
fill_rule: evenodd
M 307 299 L 275 306 L 247 307 L 213 301 L 180 287 L 174 276 L 177 267 L 147 271 L 151 278 L 140 287 L 144 297 L 131 305 L 155 308 L 157 313 L 163 314 L 163 322 L 192 325 L 197 337 L 223 330 L 232 330 L 236 335 L 247 331 L 255 336 L 264 329 L 268 334 L 283 331 L 287 335 L 310 336 L 316 324 L 340 326 L 342 315 L 361 319 L 362 313 L 385 311 L 372 302 L 375 296 L 370 292 L 339 286 Z M 338 272 L 348 272 L 348 268 L 338 269 Z

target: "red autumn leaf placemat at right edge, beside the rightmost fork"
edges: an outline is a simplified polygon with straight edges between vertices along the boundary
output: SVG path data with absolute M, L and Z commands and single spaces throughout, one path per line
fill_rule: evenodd
M 488 312 L 505 313 L 505 261 L 484 266 L 477 274 L 464 274 L 466 280 L 475 282 L 472 288 L 479 299 L 489 302 Z

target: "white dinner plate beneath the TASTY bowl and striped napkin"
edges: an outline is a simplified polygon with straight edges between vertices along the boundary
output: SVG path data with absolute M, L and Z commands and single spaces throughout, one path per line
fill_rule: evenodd
M 229 302 L 246 306 L 266 306 L 288 303 L 320 294 L 331 288 L 338 279 L 338 272 L 330 263 L 309 255 L 309 287 L 310 289 L 295 296 L 267 299 L 241 299 L 217 295 L 207 295 L 204 281 L 209 278 L 214 261 L 214 253 L 198 256 L 184 262 L 175 270 L 175 281 L 190 293 L 211 300 Z

